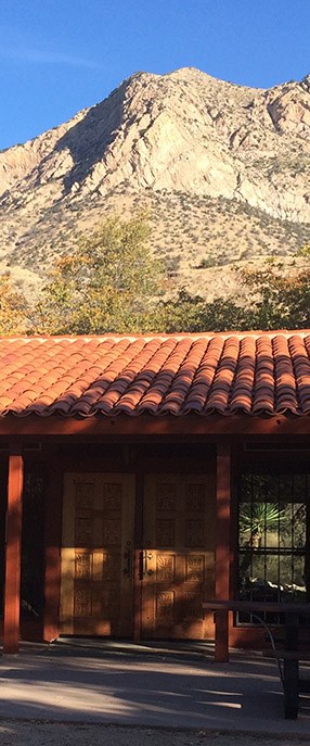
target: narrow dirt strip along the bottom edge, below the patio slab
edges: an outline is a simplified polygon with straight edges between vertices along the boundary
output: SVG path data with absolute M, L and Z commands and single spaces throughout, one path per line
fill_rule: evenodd
M 205 731 L 122 728 L 16 720 L 0 721 L 1 746 L 305 746 L 309 738 Z

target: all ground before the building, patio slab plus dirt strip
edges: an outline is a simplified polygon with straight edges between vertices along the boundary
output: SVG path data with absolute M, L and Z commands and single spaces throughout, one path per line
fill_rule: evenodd
M 285 720 L 276 665 L 260 654 L 220 665 L 190 650 L 25 646 L 0 659 L 0 695 L 1 746 L 310 744 L 310 696 Z

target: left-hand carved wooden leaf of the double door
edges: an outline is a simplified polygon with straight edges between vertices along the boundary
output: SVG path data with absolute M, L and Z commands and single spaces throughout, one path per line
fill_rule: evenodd
M 61 632 L 130 636 L 134 478 L 66 475 Z

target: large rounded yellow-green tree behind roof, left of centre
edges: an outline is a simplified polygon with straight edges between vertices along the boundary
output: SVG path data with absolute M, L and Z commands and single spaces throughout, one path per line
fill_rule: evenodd
M 37 306 L 37 331 L 143 332 L 160 292 L 162 269 L 148 246 L 147 216 L 106 219 L 62 258 Z

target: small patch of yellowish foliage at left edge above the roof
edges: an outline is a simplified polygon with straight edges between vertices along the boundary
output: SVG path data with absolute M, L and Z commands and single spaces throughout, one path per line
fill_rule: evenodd
M 0 276 L 0 334 L 25 334 L 29 328 L 25 296 L 13 285 L 10 273 Z

